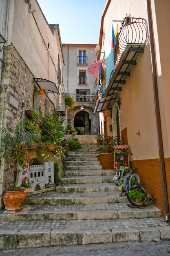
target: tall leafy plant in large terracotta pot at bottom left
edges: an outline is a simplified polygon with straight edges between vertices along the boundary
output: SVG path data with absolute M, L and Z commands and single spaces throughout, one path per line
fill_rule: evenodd
M 27 149 L 37 137 L 36 132 L 26 131 L 22 120 L 16 125 L 13 136 L 5 128 L 2 130 L 2 158 L 6 161 L 12 159 L 15 174 L 15 185 L 13 188 L 6 190 L 6 193 L 2 196 L 7 211 L 18 211 L 23 207 L 26 193 L 24 193 L 24 189 L 19 188 L 18 177 L 20 171 L 25 169 L 27 164 Z

